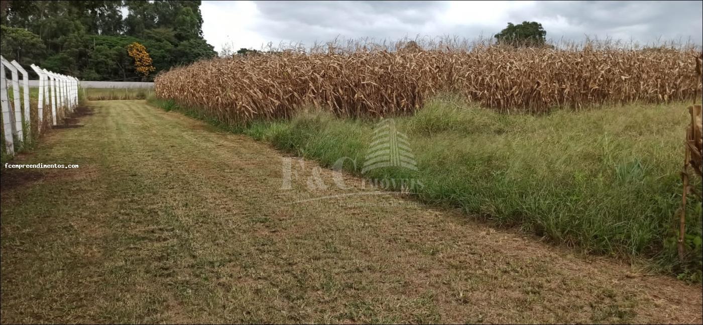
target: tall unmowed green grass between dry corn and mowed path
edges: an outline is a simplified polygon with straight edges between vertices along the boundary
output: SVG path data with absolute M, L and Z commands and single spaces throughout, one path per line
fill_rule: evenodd
M 179 108 L 171 101 L 155 104 Z M 231 129 L 363 177 L 417 179 L 416 196 L 499 226 L 520 227 L 585 252 L 657 261 L 669 272 L 701 269 L 701 204 L 688 208 L 688 258 L 678 262 L 674 215 L 681 202 L 684 103 L 504 115 L 438 98 L 396 117 L 418 171 L 361 174 L 375 121 L 300 113 Z M 181 108 L 183 109 L 183 108 Z M 195 117 L 198 110 L 186 110 Z M 210 120 L 214 124 L 217 121 Z M 700 188 L 699 179 L 695 186 Z

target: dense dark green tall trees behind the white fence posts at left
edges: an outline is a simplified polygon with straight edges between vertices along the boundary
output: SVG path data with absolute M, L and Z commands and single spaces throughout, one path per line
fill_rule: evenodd
M 150 81 L 217 55 L 202 38 L 200 2 L 1 1 L 0 51 L 84 80 Z M 134 43 L 146 49 L 153 70 L 137 69 L 127 51 Z

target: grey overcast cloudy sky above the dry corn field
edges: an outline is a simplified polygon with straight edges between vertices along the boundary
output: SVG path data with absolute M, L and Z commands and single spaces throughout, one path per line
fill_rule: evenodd
M 548 39 L 585 35 L 703 43 L 703 1 L 202 1 L 202 32 L 219 51 L 273 42 L 491 37 L 508 22 L 534 20 Z

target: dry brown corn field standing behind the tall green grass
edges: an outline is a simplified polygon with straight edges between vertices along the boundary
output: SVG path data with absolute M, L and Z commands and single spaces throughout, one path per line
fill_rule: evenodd
M 290 117 L 305 106 L 340 116 L 402 114 L 441 92 L 508 113 L 541 113 L 688 100 L 701 89 L 696 49 L 405 49 L 205 60 L 157 76 L 155 91 L 236 124 Z

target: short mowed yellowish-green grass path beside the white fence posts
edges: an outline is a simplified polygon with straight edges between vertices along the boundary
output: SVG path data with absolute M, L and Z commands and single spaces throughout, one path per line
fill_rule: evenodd
M 13 160 L 79 169 L 3 170 L 3 323 L 702 321 L 700 286 L 395 193 L 287 204 L 368 189 L 282 190 L 266 144 L 91 108 Z

